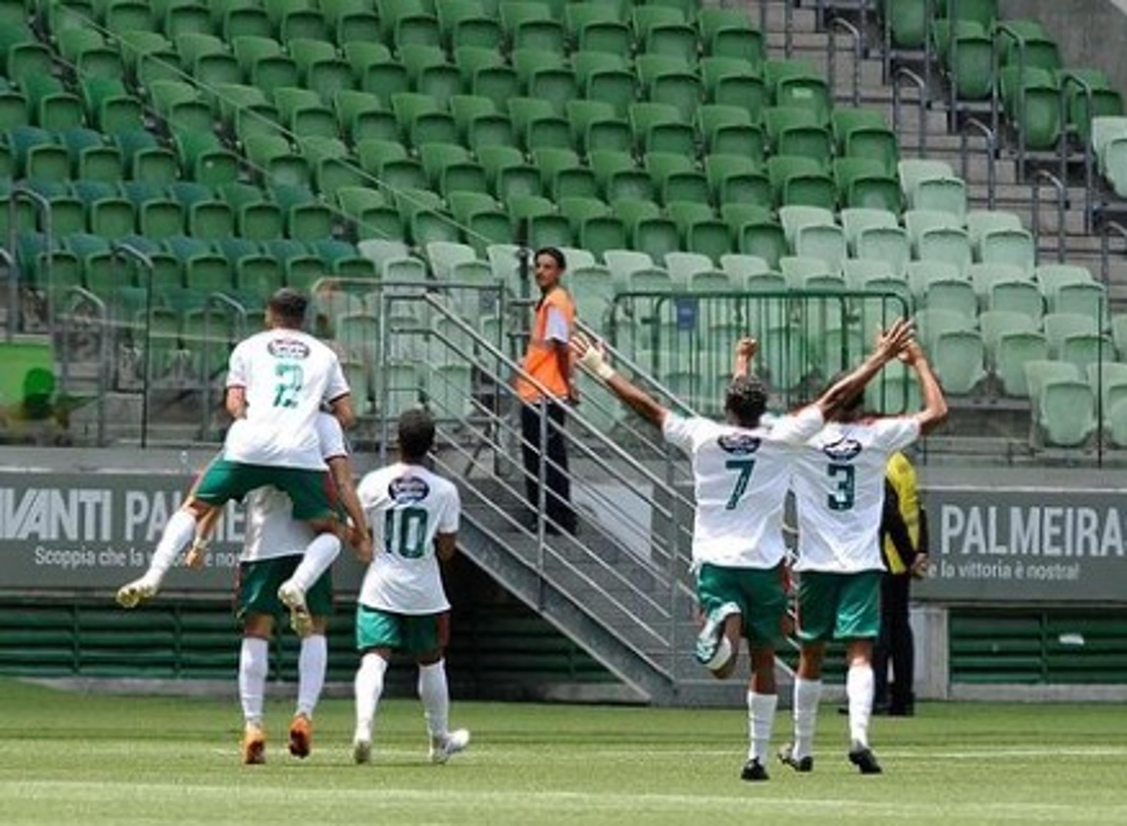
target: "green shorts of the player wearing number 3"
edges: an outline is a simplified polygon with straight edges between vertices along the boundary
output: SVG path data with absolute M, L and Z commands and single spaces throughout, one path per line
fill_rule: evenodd
M 879 570 L 857 574 L 801 571 L 798 578 L 798 639 L 876 639 L 880 634 Z

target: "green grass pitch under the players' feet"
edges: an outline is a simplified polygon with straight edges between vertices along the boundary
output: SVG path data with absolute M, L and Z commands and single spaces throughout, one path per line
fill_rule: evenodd
M 2 824 L 1125 824 L 1127 709 L 924 703 L 878 718 L 885 774 L 845 761 L 827 704 L 815 771 L 738 779 L 739 710 L 453 703 L 473 732 L 426 762 L 417 701 L 381 705 L 372 765 L 352 764 L 352 704 L 325 701 L 313 754 L 285 750 L 289 701 L 267 710 L 267 764 L 241 766 L 236 703 L 56 692 L 0 682 Z M 780 712 L 775 741 L 789 732 Z

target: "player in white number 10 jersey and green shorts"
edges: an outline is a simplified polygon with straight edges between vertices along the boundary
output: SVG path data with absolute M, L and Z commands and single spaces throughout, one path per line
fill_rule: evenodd
M 361 480 L 358 494 L 379 552 L 367 567 L 356 605 L 356 735 L 353 757 L 372 760 L 372 722 L 393 651 L 418 664 L 418 692 L 431 736 L 431 762 L 445 763 L 470 741 L 447 728 L 450 693 L 443 649 L 450 603 L 438 560 L 454 556 L 461 505 L 458 488 L 425 467 L 434 421 L 421 409 L 399 417 L 399 461 Z

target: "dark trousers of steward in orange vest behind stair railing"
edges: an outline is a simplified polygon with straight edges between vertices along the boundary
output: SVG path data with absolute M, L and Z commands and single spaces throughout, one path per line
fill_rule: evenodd
M 540 411 L 547 409 L 547 439 L 540 441 Z M 524 491 L 533 510 L 540 507 L 540 464 L 547 459 L 544 482 L 548 488 L 544 497 L 544 513 L 550 522 L 564 531 L 575 532 L 575 510 L 571 509 L 571 479 L 567 468 L 567 442 L 564 438 L 564 424 L 567 420 L 567 408 L 557 401 L 547 402 L 544 408 L 539 403 L 521 406 L 521 436 L 524 452 Z

